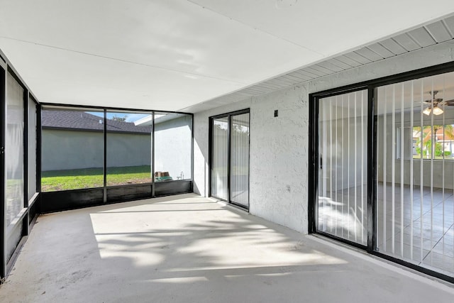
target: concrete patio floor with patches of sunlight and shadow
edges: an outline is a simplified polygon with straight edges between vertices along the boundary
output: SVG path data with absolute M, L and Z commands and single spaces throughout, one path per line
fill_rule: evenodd
M 185 194 L 40 216 L 0 302 L 453 302 L 454 287 Z

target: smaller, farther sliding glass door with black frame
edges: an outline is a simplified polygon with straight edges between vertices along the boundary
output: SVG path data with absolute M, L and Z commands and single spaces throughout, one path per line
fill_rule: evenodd
M 249 112 L 211 119 L 211 196 L 249 207 Z

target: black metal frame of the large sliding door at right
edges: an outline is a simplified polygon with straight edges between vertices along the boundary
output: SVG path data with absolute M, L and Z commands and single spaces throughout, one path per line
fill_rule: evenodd
M 346 243 L 350 246 L 361 248 L 367 253 L 377 255 L 380 258 L 390 260 L 394 263 L 404 265 L 419 272 L 426 273 L 438 277 L 448 282 L 454 282 L 454 277 L 444 275 L 441 272 L 423 268 L 414 263 L 409 263 L 405 260 L 394 258 L 390 255 L 385 255 L 377 251 L 377 87 L 404 82 L 411 79 L 419 79 L 421 77 L 428 77 L 433 75 L 442 74 L 445 72 L 454 71 L 454 62 L 444 63 L 433 67 L 426 67 L 420 70 L 413 70 L 404 72 L 398 75 L 389 77 L 382 77 L 379 79 L 370 80 L 367 82 L 360 82 L 345 87 L 338 87 L 329 89 L 323 92 L 316 92 L 309 94 L 309 202 L 308 202 L 308 230 L 309 233 L 318 233 L 328 238 L 333 238 L 336 241 Z M 367 89 L 367 246 L 362 246 L 358 243 L 348 241 L 344 238 L 333 236 L 329 233 L 319 231 L 316 226 L 318 220 L 317 206 L 318 206 L 318 192 L 319 192 L 319 100 L 326 97 L 332 97 L 339 94 L 348 92 L 355 92 L 361 89 Z

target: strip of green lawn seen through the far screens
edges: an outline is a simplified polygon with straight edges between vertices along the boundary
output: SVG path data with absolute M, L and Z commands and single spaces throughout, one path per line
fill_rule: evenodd
M 138 184 L 152 182 L 150 166 L 109 167 L 107 185 Z M 102 168 L 81 170 L 49 170 L 41 174 L 43 192 L 57 190 L 102 187 L 104 184 Z

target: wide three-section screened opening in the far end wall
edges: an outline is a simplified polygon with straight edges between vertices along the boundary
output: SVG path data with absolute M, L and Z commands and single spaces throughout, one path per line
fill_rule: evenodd
M 192 190 L 190 114 L 45 106 L 41 124 L 43 192 L 109 187 L 96 199 L 116 202 Z

